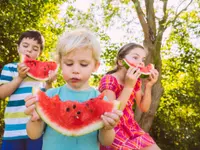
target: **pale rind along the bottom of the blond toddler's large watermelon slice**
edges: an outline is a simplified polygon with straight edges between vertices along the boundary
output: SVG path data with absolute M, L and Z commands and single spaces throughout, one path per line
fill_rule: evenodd
M 120 108 L 120 102 L 117 100 L 114 100 L 114 107 L 113 109 L 119 109 Z M 99 130 L 101 128 L 104 127 L 103 121 L 99 120 L 99 121 L 95 121 L 95 123 L 91 123 L 90 125 L 80 129 L 80 130 L 66 130 L 63 127 L 59 127 L 56 123 L 53 123 L 50 119 L 48 119 L 47 117 L 45 117 L 45 114 L 42 111 L 42 108 L 39 106 L 39 103 L 36 103 L 36 111 L 39 114 L 39 116 L 41 117 L 41 119 L 46 122 L 51 128 L 53 128 L 54 130 L 56 130 L 57 132 L 66 135 L 66 136 L 82 136 L 88 133 L 91 133 L 93 131 Z

